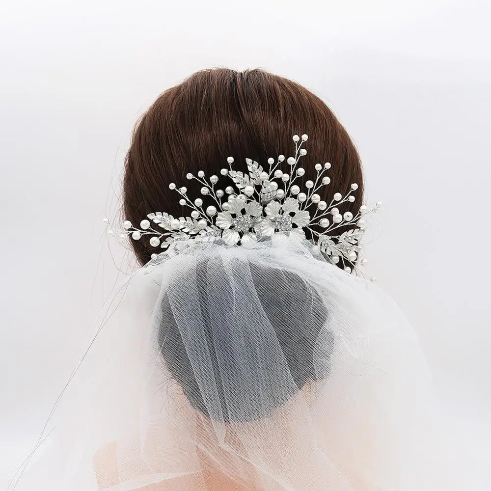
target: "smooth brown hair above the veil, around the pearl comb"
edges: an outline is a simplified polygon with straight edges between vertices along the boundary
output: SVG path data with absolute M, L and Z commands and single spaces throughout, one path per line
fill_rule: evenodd
M 339 207 L 341 213 L 356 215 L 363 198 L 360 159 L 350 136 L 319 97 L 260 69 L 196 72 L 159 96 L 136 125 L 125 163 L 125 218 L 139 223 L 156 211 L 185 215 L 179 195 L 168 188 L 171 182 L 186 185 L 190 196 L 202 197 L 204 207 L 213 204 L 200 195 L 199 183 L 186 180 L 188 172 L 217 174 L 224 188 L 228 178 L 219 170 L 227 166 L 228 156 L 234 157 L 236 170 L 247 171 L 246 158 L 265 163 L 280 154 L 288 157 L 292 136 L 304 133 L 308 153 L 299 185 L 315 176 L 316 163 L 330 162 L 331 184 L 321 188 L 322 199 L 329 203 L 334 192 L 344 195 L 357 183 L 355 202 Z M 132 245 L 141 264 L 162 250 L 147 241 L 132 240 Z

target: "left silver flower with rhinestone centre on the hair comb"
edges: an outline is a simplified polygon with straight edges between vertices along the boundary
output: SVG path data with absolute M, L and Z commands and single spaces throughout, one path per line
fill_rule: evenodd
M 245 212 L 245 213 L 243 213 Z M 230 246 L 257 241 L 263 207 L 257 201 L 234 198 L 228 202 L 228 210 L 217 215 L 215 224 L 223 229 L 221 238 Z

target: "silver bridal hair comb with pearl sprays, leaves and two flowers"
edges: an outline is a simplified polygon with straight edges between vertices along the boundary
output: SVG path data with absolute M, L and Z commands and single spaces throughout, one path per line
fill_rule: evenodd
M 178 188 L 170 183 L 169 189 L 181 196 L 179 204 L 191 208 L 190 216 L 174 218 L 164 212 L 150 213 L 140 222 L 139 228 L 126 220 L 120 237 L 131 236 L 133 240 L 140 240 L 150 236 L 150 246 L 166 249 L 190 239 L 201 242 L 221 239 L 230 246 L 250 246 L 277 232 L 299 234 L 301 237 L 306 237 L 307 232 L 320 252 L 329 256 L 334 264 L 341 261 L 345 271 L 351 273 L 356 265 L 366 262 L 359 257 L 365 216 L 377 211 L 382 203 L 378 202 L 371 209 L 363 205 L 355 215 L 349 211 L 341 214 L 340 204 L 355 201 L 356 183 L 344 196 L 335 192 L 329 204 L 322 200 L 317 191 L 330 183 L 326 175 L 331 167 L 328 162 L 315 164 L 317 176 L 315 180 L 305 181 L 304 190 L 296 185 L 295 181 L 305 175 L 300 160 L 307 154 L 307 150 L 302 148 L 307 139 L 307 135 L 294 135 L 295 156 L 285 159 L 284 155 L 279 155 L 276 161 L 269 158 L 268 170 L 246 159 L 248 173 L 239 172 L 232 167 L 233 157 L 228 157 L 228 168 L 220 170 L 222 176 L 231 180 L 231 185 L 225 190 L 216 189 L 217 175 L 207 180 L 202 170 L 197 175 L 188 173 L 186 177 L 189 180 L 195 179 L 202 185 L 201 194 L 210 196 L 216 204 L 203 209 L 202 198 L 191 199 L 186 187 Z M 285 160 L 288 171 L 281 168 Z M 104 221 L 109 223 L 107 218 Z M 352 228 L 346 230 L 347 226 Z M 341 227 L 345 231 L 337 233 Z M 109 229 L 109 233 L 114 232 Z

